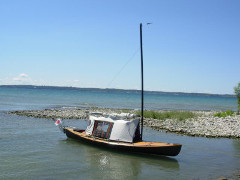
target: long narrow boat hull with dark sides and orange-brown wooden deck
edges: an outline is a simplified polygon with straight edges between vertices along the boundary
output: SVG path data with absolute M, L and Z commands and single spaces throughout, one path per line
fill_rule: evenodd
M 77 139 L 82 142 L 86 142 L 87 144 L 127 152 L 155 154 L 163 156 L 176 156 L 179 154 L 182 147 L 181 144 L 169 144 L 159 142 L 140 141 L 135 143 L 125 143 L 108 141 L 104 139 L 93 138 L 91 136 L 86 135 L 84 132 L 77 132 L 70 128 L 64 128 L 64 132 L 66 133 L 67 137 Z

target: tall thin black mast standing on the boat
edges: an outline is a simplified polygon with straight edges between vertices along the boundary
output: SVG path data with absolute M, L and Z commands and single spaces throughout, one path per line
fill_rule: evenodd
M 143 136 L 143 105 L 144 105 L 144 96 L 143 96 L 143 49 L 142 49 L 142 23 L 140 24 L 140 48 L 141 48 L 141 134 L 140 139 L 142 140 Z

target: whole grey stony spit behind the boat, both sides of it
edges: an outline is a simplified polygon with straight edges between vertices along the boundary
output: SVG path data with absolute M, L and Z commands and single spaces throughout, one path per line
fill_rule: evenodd
M 86 119 L 87 112 L 120 113 L 125 110 L 91 108 L 91 109 L 45 109 L 30 111 L 13 111 L 11 114 L 36 118 Z M 129 110 L 134 113 L 134 110 Z M 240 115 L 225 118 L 214 117 L 216 112 L 194 111 L 195 118 L 176 119 L 145 119 L 144 125 L 155 130 L 166 130 L 191 136 L 240 138 Z

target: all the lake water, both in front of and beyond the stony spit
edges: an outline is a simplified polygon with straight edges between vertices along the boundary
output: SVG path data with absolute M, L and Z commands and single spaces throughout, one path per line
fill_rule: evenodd
M 49 107 L 138 108 L 138 98 L 133 92 L 0 87 L 0 179 L 217 179 L 240 174 L 237 139 L 188 137 L 145 128 L 145 140 L 181 143 L 182 151 L 174 158 L 132 155 L 68 139 L 51 120 L 6 113 Z M 235 108 L 234 98 L 218 96 L 148 94 L 146 101 L 148 109 Z

